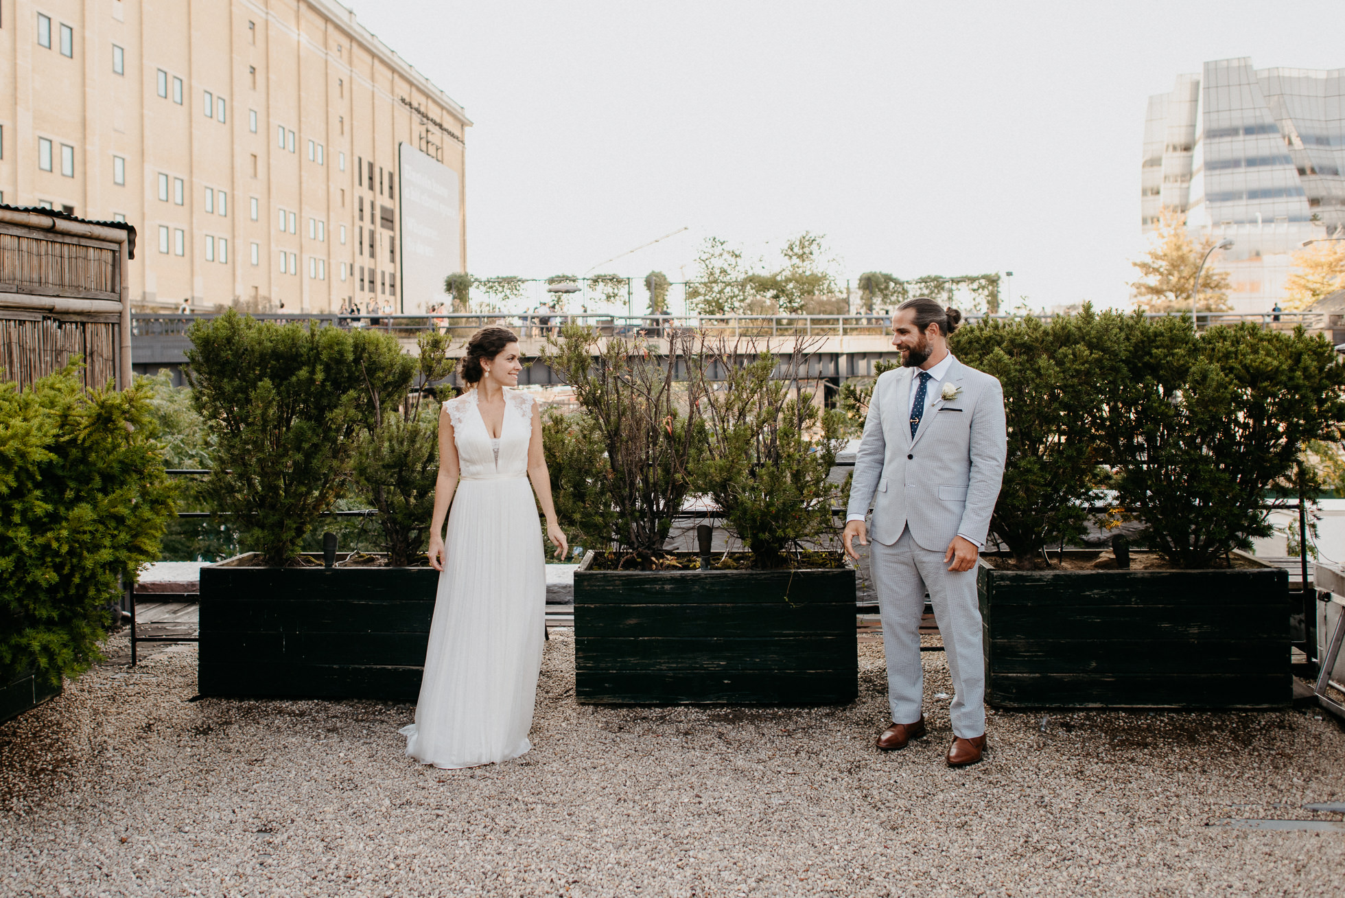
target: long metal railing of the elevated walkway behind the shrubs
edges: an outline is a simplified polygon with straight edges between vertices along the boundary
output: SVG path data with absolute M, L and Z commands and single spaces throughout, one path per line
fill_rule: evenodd
M 1189 315 L 1189 312 L 1186 312 Z M 217 318 L 215 314 L 159 314 L 134 312 L 130 316 L 133 337 L 186 337 L 192 322 Z M 1050 314 L 1030 315 L 1048 320 Z M 1151 312 L 1146 318 L 1176 315 Z M 577 323 L 596 329 L 604 337 L 668 337 L 674 333 L 697 330 L 712 337 L 884 337 L 889 333 L 886 315 L 613 315 L 605 312 L 433 312 L 430 315 L 331 315 L 331 314 L 258 314 L 260 320 L 317 322 L 335 327 L 374 327 L 413 337 L 434 329 L 455 337 L 471 337 L 486 326 L 510 327 L 519 337 L 545 338 L 560 333 L 562 324 Z M 1010 320 L 1021 315 L 968 314 L 968 322 L 994 318 Z M 1219 324 L 1254 323 L 1274 330 L 1293 330 L 1303 324 L 1321 330 L 1328 323 L 1325 312 L 1200 312 L 1196 324 L 1201 330 Z

